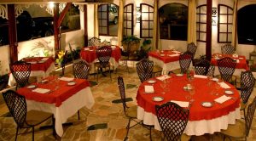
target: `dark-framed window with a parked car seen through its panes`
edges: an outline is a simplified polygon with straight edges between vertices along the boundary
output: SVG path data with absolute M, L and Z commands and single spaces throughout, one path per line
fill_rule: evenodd
M 119 9 L 115 4 L 102 4 L 98 8 L 99 35 L 117 36 Z

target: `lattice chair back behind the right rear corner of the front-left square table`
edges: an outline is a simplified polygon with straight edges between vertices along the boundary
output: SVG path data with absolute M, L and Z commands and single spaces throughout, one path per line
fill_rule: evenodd
M 88 79 L 90 65 L 84 59 L 78 59 L 73 63 L 73 76 L 80 79 Z

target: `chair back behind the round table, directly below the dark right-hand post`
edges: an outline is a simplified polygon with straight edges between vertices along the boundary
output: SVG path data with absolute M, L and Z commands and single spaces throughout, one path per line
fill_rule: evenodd
M 207 76 L 210 65 L 207 59 L 201 59 L 199 62 L 195 63 L 195 74 Z

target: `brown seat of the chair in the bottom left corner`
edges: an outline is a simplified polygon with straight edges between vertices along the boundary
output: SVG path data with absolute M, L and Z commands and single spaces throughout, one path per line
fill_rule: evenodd
M 41 122 L 49 119 L 53 114 L 38 110 L 30 110 L 26 113 L 26 124 L 28 126 L 35 126 Z

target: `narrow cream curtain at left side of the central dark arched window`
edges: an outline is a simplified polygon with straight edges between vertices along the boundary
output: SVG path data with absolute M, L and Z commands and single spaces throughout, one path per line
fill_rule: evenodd
M 161 49 L 158 47 L 159 40 L 159 28 L 158 28 L 158 0 L 154 0 L 154 27 L 153 27 L 153 47 L 152 50 Z

